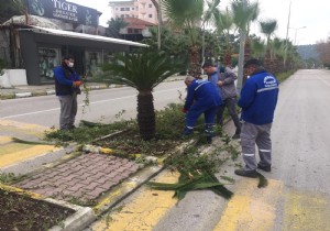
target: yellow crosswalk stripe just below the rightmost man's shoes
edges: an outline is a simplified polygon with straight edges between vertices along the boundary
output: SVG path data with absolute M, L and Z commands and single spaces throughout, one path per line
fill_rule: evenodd
M 276 204 L 282 195 L 283 184 L 268 179 L 268 186 L 257 188 L 256 179 L 237 183 L 234 196 L 216 226 L 215 231 L 270 231 L 276 218 Z

